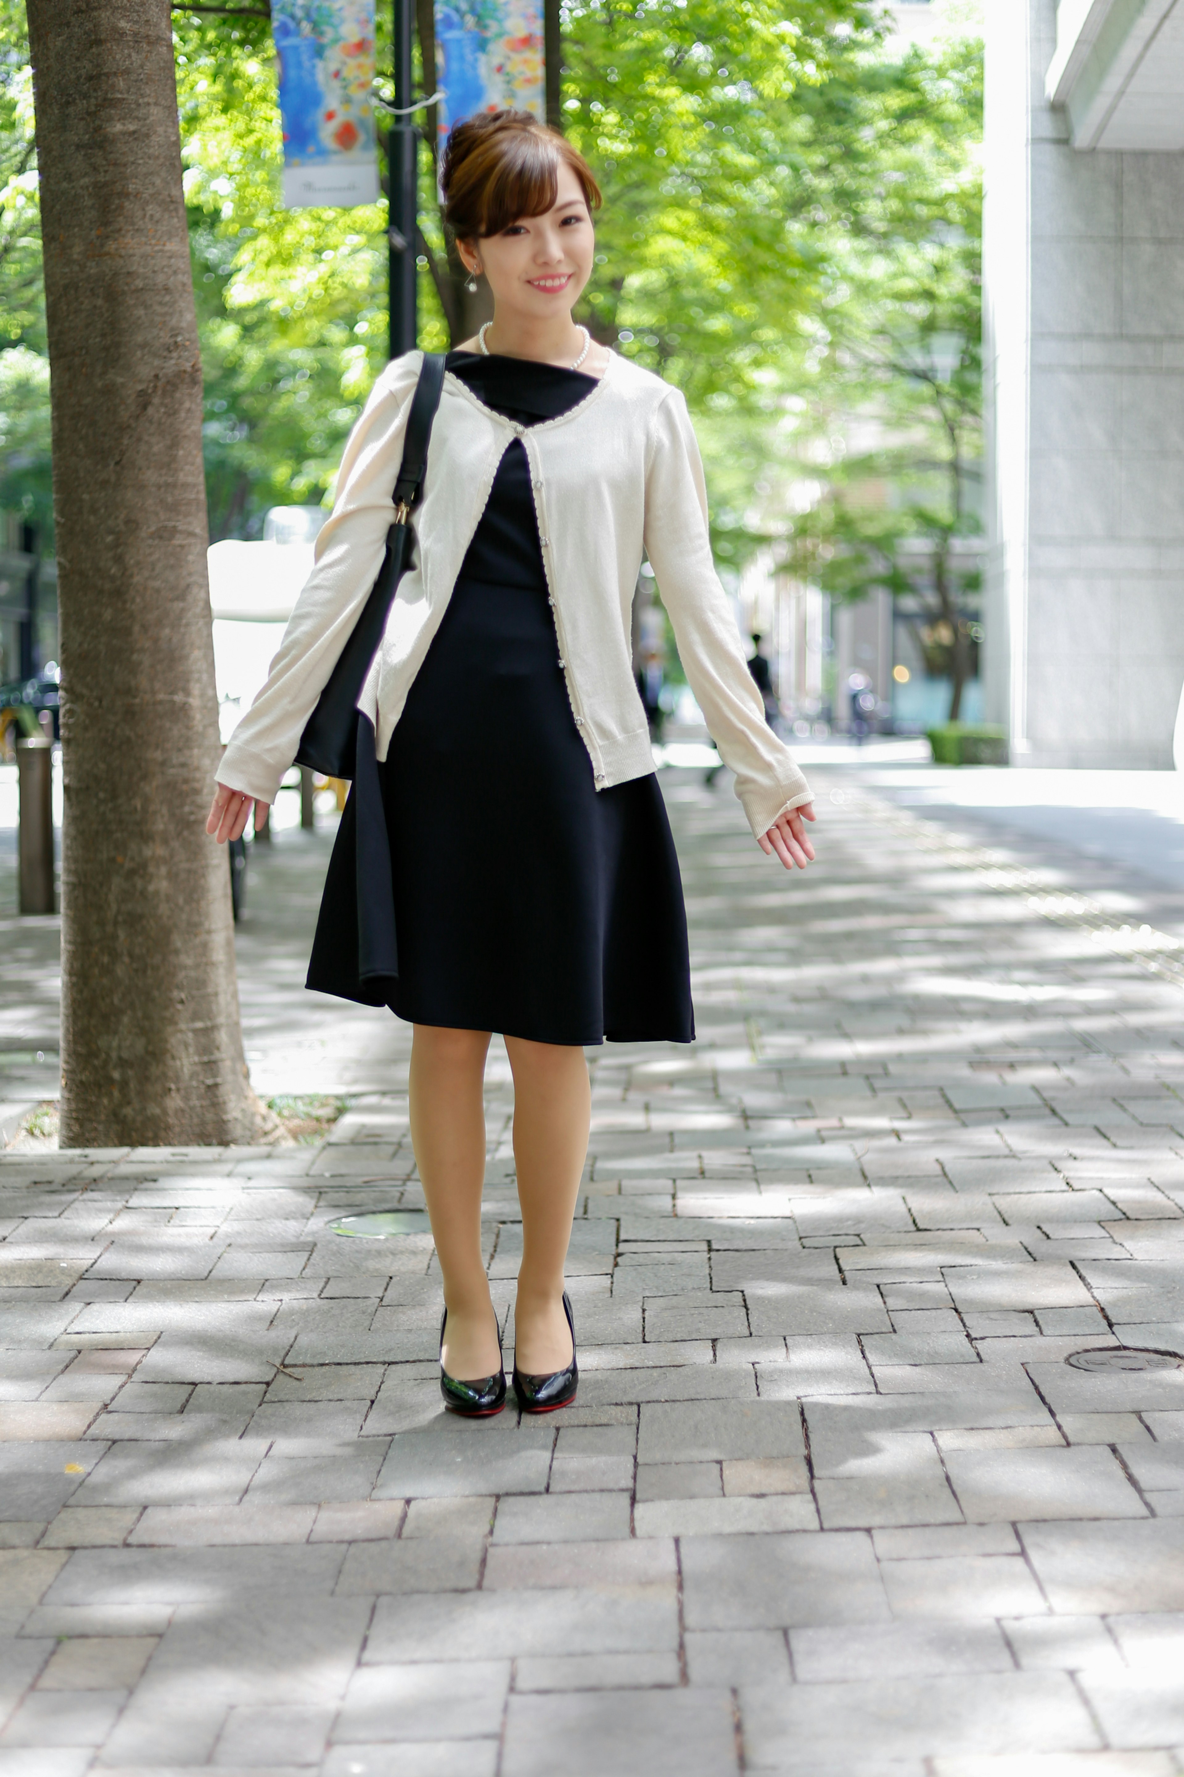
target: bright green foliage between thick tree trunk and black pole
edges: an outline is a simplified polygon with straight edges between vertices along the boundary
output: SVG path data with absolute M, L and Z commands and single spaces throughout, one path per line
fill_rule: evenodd
M 284 210 L 266 18 L 178 12 L 211 537 L 316 505 L 385 363 L 385 206 Z

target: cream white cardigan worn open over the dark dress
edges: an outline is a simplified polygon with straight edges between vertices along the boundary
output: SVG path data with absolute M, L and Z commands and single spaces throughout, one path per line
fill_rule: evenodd
M 304 725 L 375 583 L 392 522 L 392 489 L 422 354 L 378 377 L 346 444 L 332 517 L 268 682 L 238 723 L 218 782 L 273 801 Z M 643 551 L 675 626 L 691 689 L 756 835 L 811 801 L 806 778 L 765 723 L 731 606 L 712 563 L 703 464 L 678 389 L 609 354 L 595 389 L 566 414 L 520 426 L 444 377 L 424 498 L 414 514 L 415 567 L 399 583 L 359 709 L 378 757 L 440 627 L 497 466 L 520 437 L 529 462 L 559 665 L 596 789 L 653 769 L 634 681 L 632 599 Z M 497 734 L 490 734 L 497 769 Z M 472 785 L 474 796 L 481 785 Z

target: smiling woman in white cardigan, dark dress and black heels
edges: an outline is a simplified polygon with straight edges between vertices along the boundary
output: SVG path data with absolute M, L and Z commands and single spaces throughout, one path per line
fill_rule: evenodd
M 767 853 L 806 867 L 811 793 L 765 725 L 715 578 L 682 394 L 593 345 L 572 307 L 600 192 L 522 112 L 453 128 L 446 219 L 493 320 L 446 361 L 415 567 L 366 681 L 309 986 L 414 1024 L 410 1121 L 440 1274 L 440 1388 L 506 1400 L 481 1258 L 490 1032 L 515 1082 L 518 1404 L 575 1397 L 563 1267 L 589 1128 L 584 1045 L 694 1038 L 687 926 L 630 608 L 648 553 L 680 657 Z M 218 768 L 208 832 L 275 798 L 375 581 L 421 354 L 378 379 L 316 567 Z M 385 961 L 383 961 L 385 958 Z

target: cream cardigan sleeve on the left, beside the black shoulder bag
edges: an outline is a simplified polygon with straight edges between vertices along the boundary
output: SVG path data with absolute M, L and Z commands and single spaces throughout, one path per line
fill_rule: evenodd
M 421 352 L 383 370 L 341 458 L 337 499 L 268 681 L 234 729 L 217 782 L 275 801 L 304 727 L 369 595 L 394 519 L 394 482 Z

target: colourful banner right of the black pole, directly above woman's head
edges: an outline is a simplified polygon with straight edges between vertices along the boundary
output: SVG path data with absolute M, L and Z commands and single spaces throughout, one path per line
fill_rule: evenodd
M 437 0 L 435 41 L 447 94 L 437 107 L 440 135 L 485 110 L 547 116 L 541 0 Z

